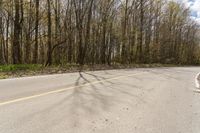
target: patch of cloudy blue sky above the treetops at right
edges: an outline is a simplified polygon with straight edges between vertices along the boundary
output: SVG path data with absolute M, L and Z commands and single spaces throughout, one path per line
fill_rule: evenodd
M 200 24 L 200 0 L 176 0 L 191 10 L 191 18 Z

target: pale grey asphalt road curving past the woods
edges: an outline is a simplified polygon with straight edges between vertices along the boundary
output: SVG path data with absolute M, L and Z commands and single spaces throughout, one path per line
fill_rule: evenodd
M 0 133 L 200 133 L 200 68 L 0 80 Z

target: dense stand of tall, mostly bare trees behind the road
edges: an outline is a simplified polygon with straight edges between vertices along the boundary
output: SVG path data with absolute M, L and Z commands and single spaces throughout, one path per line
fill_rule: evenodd
M 199 62 L 199 26 L 176 2 L 0 1 L 0 64 Z

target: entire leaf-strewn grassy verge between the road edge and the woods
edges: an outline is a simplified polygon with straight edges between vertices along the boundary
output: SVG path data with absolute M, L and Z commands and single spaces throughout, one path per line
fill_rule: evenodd
M 124 69 L 124 68 L 152 68 L 152 67 L 174 67 L 174 66 L 177 65 L 165 65 L 165 64 L 129 64 L 129 65 L 115 64 L 111 66 L 84 65 L 82 67 L 82 70 L 94 71 L 94 70 L 111 70 L 111 69 Z M 63 66 L 53 65 L 50 67 L 44 67 L 41 64 L 0 65 L 0 79 L 78 72 L 79 69 L 80 67 L 77 64 L 67 64 Z

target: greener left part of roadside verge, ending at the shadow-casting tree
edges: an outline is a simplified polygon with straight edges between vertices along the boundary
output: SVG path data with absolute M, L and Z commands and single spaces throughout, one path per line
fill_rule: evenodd
M 41 64 L 0 65 L 0 79 L 26 77 L 35 75 L 76 72 L 78 65 L 44 67 Z

